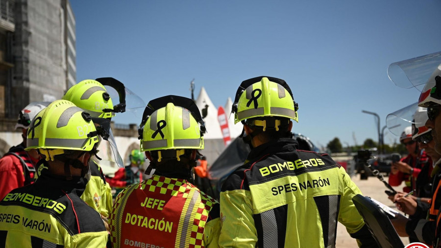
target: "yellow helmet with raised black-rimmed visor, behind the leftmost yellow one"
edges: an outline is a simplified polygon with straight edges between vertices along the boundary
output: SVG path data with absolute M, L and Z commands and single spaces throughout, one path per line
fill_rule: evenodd
M 104 85 L 109 85 L 118 91 L 119 104 L 113 106 L 112 99 Z M 115 116 L 115 112 L 125 111 L 124 89 L 124 84 L 112 77 L 101 77 L 96 80 L 86 79 L 73 85 L 63 96 L 63 99 L 72 101 L 92 117 L 111 118 Z

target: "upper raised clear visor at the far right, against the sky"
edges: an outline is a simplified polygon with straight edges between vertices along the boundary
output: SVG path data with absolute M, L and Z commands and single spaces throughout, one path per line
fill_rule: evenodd
M 434 70 L 441 64 L 441 51 L 392 63 L 388 76 L 398 87 L 421 91 Z

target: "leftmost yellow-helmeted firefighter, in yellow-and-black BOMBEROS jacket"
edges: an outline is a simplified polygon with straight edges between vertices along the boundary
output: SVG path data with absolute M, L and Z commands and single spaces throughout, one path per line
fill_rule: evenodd
M 77 127 L 87 127 L 78 133 Z M 102 127 L 99 125 L 99 127 Z M 81 198 L 98 135 L 90 115 L 67 100 L 40 111 L 27 131 L 27 148 L 37 149 L 38 180 L 0 202 L 0 244 L 6 247 L 105 247 L 101 216 Z

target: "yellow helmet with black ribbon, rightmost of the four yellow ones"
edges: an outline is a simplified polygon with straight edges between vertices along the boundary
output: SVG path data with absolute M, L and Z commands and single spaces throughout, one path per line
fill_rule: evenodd
M 297 110 L 298 104 L 288 84 L 270 76 L 243 81 L 232 106 L 235 124 L 257 117 L 285 117 L 298 122 Z M 266 124 L 259 125 L 265 129 Z

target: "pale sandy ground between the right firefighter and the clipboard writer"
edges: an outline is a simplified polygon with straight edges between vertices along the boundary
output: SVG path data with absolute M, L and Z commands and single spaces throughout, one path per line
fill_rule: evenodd
M 388 177 L 385 177 L 385 180 L 388 181 Z M 368 180 L 360 180 L 360 175 L 356 175 L 352 177 L 352 181 L 360 188 L 364 196 L 368 196 L 374 198 L 393 209 L 396 209 L 395 204 L 392 203 L 391 200 L 388 199 L 388 196 L 384 193 L 387 189 L 386 186 L 376 177 L 370 176 Z M 395 190 L 401 191 L 404 187 L 404 183 L 401 186 L 394 187 Z M 404 245 L 409 244 L 409 238 L 401 238 Z M 336 239 L 336 248 L 356 248 L 357 242 L 355 239 L 351 238 L 349 234 L 346 232 L 346 228 L 343 224 L 338 223 L 337 226 L 337 239 Z

